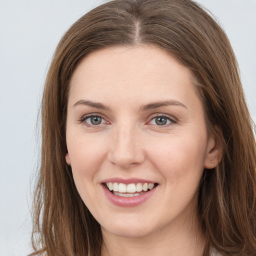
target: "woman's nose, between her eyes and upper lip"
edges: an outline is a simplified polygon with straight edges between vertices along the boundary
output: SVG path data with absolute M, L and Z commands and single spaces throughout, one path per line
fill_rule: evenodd
M 114 131 L 108 160 L 122 168 L 139 165 L 144 161 L 140 132 L 135 125 L 119 125 Z

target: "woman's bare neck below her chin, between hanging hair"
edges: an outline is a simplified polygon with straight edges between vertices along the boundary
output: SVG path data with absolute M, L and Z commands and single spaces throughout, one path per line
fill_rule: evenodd
M 198 220 L 170 224 L 141 237 L 121 237 L 102 228 L 101 256 L 202 256 L 205 237 L 199 226 Z

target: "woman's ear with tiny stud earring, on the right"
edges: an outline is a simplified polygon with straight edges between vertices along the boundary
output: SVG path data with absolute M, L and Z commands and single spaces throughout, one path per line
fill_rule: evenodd
M 222 145 L 219 141 L 220 129 L 214 126 L 214 131 L 208 138 L 207 149 L 204 159 L 204 168 L 212 169 L 218 165 L 222 158 Z

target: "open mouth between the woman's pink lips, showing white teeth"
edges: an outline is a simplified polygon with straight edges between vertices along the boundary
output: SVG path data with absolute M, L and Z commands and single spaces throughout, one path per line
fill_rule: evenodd
M 118 183 L 106 182 L 104 183 L 108 190 L 117 196 L 131 197 L 138 196 L 150 191 L 158 185 L 158 183 Z

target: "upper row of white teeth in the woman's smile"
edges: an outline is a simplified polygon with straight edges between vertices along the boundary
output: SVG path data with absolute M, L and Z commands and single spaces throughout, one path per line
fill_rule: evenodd
M 151 190 L 154 187 L 154 183 L 124 184 L 124 183 L 117 183 L 117 182 L 107 182 L 106 186 L 110 191 L 113 190 L 114 192 L 119 192 L 119 193 L 132 193 L 132 195 L 130 196 L 134 196 L 135 192 L 141 192 L 142 190 L 146 192 L 148 189 Z

